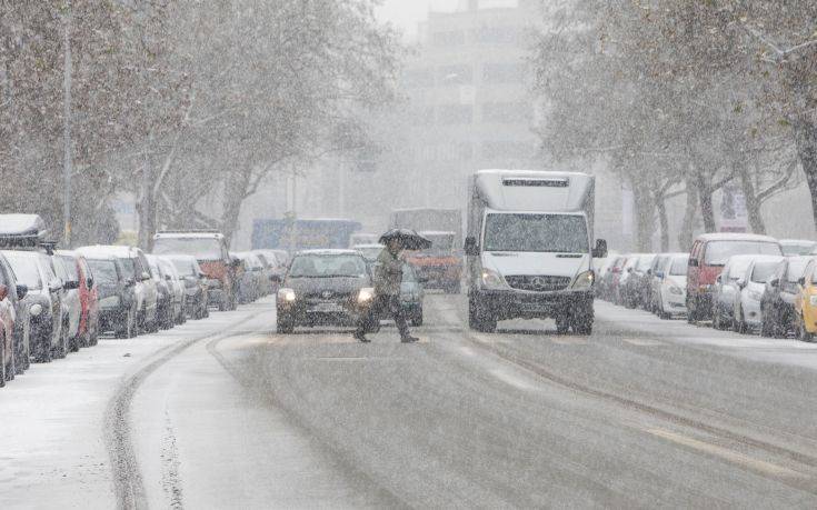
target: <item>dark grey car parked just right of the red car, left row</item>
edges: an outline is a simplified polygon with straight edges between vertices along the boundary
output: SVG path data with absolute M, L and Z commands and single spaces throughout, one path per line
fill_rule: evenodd
M 112 331 L 117 338 L 133 338 L 138 333 L 139 303 L 136 281 L 119 258 L 84 248 L 84 257 L 93 276 L 99 299 L 99 332 Z

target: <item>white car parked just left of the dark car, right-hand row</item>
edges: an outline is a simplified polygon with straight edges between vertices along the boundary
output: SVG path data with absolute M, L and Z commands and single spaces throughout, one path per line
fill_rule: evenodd
M 733 328 L 736 332 L 745 333 L 749 329 L 760 329 L 763 326 L 763 313 L 760 301 L 763 301 L 766 283 L 774 278 L 775 270 L 783 261 L 778 256 L 755 256 L 746 269 L 746 272 L 737 281 L 740 289 L 738 299 L 735 300 Z

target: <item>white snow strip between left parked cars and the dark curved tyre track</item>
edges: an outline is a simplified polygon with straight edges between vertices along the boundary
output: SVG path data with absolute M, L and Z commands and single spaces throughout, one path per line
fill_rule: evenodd
M 162 350 L 249 314 L 211 313 L 156 334 L 103 338 L 66 359 L 32 364 L 0 390 L 0 508 L 114 508 L 103 428 L 120 382 Z

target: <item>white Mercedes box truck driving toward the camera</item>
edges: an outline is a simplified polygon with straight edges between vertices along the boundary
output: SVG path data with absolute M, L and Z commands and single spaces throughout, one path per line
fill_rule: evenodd
M 552 318 L 557 330 L 592 331 L 595 178 L 576 172 L 480 170 L 470 178 L 468 319 L 492 332 L 498 320 Z

